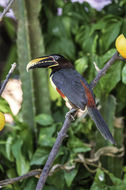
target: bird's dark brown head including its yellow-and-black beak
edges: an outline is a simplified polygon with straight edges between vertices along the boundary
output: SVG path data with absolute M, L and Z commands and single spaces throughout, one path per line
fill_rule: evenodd
M 52 68 L 52 69 L 61 69 L 61 68 L 72 68 L 73 65 L 69 60 L 59 54 L 52 54 L 49 56 L 43 56 L 36 59 L 31 60 L 26 70 L 34 68 Z

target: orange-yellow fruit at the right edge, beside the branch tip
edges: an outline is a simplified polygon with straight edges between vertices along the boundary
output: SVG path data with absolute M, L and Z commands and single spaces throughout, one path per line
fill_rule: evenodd
M 119 35 L 116 38 L 115 46 L 120 55 L 123 58 L 126 58 L 126 38 L 123 34 Z

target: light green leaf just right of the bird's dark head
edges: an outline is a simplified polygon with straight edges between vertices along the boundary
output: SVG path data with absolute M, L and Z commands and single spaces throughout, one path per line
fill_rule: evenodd
M 80 73 L 83 74 L 83 72 L 88 68 L 88 59 L 86 56 L 81 57 L 75 61 L 75 67 L 76 70 Z

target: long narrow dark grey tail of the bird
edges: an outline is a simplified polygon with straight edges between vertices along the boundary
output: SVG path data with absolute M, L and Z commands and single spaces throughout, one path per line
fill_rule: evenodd
M 95 122 L 98 130 L 102 134 L 102 136 L 109 140 L 112 144 L 116 144 L 114 138 L 112 137 L 111 132 L 107 124 L 105 123 L 103 117 L 101 116 L 100 112 L 97 110 L 96 107 L 87 107 L 88 113 L 91 116 L 92 120 Z

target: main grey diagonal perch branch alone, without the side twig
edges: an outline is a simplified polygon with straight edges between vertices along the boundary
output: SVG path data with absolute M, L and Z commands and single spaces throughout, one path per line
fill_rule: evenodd
M 101 69 L 97 76 L 95 77 L 95 79 L 91 82 L 91 87 L 94 88 L 96 86 L 96 84 L 98 83 L 98 81 L 100 80 L 100 78 L 102 76 L 105 75 L 105 73 L 107 72 L 107 70 L 109 69 L 109 67 L 116 61 L 116 60 L 119 60 L 120 59 L 120 56 L 118 54 L 118 52 L 116 52 L 112 58 L 105 64 L 105 66 L 103 67 L 103 69 Z M 76 113 L 75 113 L 76 114 Z M 49 154 L 49 157 L 48 157 L 48 160 L 43 168 L 43 171 L 40 175 L 40 178 L 39 178 L 39 181 L 38 181 L 38 184 L 37 184 L 37 187 L 36 187 L 36 190 L 42 190 L 43 187 L 44 187 L 44 184 L 45 184 L 45 181 L 46 181 L 46 178 L 48 177 L 48 174 L 49 174 L 49 170 L 50 170 L 50 167 L 52 166 L 53 164 L 53 161 L 55 159 L 55 156 L 56 154 L 58 153 L 59 151 L 59 148 L 60 148 L 60 145 L 63 141 L 63 139 L 65 138 L 66 136 L 66 132 L 71 124 L 71 121 L 72 121 L 72 118 L 71 118 L 71 115 L 70 114 L 67 114 L 67 117 L 64 121 L 64 124 L 63 124 L 63 127 L 61 128 L 59 134 L 58 134 L 58 137 L 56 139 L 56 142 Z

